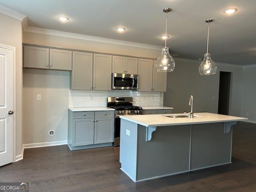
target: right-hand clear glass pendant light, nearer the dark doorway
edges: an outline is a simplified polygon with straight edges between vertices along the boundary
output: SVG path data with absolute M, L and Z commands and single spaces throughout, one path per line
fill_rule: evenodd
M 213 20 L 207 19 L 205 22 L 208 23 L 207 52 L 204 54 L 204 60 L 199 66 L 199 73 L 200 75 L 214 75 L 217 72 L 217 66 L 211 59 L 210 53 L 208 53 L 210 22 L 213 22 Z

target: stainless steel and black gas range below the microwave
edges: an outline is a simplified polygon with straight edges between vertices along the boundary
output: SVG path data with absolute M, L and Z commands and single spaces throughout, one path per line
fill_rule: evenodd
M 142 107 L 132 105 L 132 97 L 108 97 L 107 106 L 115 109 L 114 146 L 120 144 L 120 115 L 141 115 Z

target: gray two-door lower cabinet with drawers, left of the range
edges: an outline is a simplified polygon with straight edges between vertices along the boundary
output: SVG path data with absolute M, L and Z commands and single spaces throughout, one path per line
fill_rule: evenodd
M 112 146 L 112 142 L 114 142 L 114 111 L 68 110 L 70 150 Z

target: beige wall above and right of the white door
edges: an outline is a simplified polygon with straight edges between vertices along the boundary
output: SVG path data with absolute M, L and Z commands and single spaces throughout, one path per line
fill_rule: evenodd
M 22 24 L 0 13 L 0 43 L 16 48 L 16 156 L 22 149 Z

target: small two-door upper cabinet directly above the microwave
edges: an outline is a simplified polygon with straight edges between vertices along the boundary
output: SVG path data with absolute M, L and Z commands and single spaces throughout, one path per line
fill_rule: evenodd
M 112 56 L 112 73 L 138 74 L 138 58 Z

